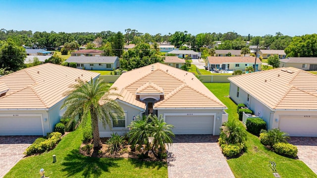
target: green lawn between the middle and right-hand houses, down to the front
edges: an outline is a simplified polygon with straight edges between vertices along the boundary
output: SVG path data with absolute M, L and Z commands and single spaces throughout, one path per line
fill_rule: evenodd
M 226 112 L 230 119 L 237 119 L 236 104 L 227 97 L 229 84 L 206 83 L 205 86 L 213 92 L 227 107 Z M 281 178 L 317 178 L 304 162 L 280 156 L 264 147 L 259 137 L 248 133 L 248 150 L 238 158 L 227 160 L 230 169 L 236 178 L 274 178 L 268 161 L 276 163 L 276 170 Z

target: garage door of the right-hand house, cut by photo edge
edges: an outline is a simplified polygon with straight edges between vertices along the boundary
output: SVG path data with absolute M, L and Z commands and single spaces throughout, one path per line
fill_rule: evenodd
M 290 136 L 317 136 L 317 116 L 280 116 L 279 129 Z

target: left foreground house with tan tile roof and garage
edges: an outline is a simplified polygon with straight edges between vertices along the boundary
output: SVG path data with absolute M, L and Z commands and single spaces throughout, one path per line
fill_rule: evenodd
M 0 135 L 42 135 L 54 131 L 64 110 L 63 93 L 78 78 L 90 81 L 99 73 L 51 63 L 0 77 Z

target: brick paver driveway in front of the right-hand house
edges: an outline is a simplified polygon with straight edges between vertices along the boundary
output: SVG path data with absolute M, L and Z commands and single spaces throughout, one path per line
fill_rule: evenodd
M 317 174 L 317 137 L 291 137 L 288 141 L 297 146 L 297 156 Z

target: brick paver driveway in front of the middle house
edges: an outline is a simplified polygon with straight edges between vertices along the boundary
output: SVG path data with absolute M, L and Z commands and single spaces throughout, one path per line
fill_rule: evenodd
M 169 178 L 234 178 L 212 135 L 176 135 L 168 148 Z

